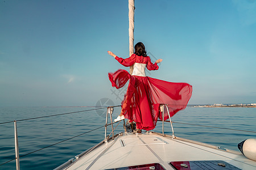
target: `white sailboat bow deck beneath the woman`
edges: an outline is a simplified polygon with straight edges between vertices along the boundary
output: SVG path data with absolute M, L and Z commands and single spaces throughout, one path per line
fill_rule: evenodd
M 152 163 L 159 163 L 164 169 L 174 169 L 170 162 L 201 160 L 220 160 L 240 169 L 256 169 L 256 162 L 240 152 L 155 133 L 123 133 L 108 143 L 102 142 L 65 169 L 113 169 Z

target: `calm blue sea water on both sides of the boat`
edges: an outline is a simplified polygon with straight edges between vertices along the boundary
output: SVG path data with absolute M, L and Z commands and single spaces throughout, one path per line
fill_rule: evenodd
M 43 108 L 43 107 L 0 107 L 0 123 L 31 117 L 84 111 L 92 108 Z M 114 117 L 119 109 L 115 109 Z M 106 109 L 62 116 L 18 121 L 20 156 L 53 145 L 105 124 Z M 216 126 L 240 130 L 256 131 L 256 108 L 186 108 L 172 117 L 172 121 L 189 124 Z M 165 123 L 170 134 L 170 123 Z M 122 126 L 115 130 L 122 131 Z M 162 122 L 154 131 L 161 132 Z M 237 143 L 256 138 L 256 133 L 201 126 L 174 124 L 175 135 L 200 142 L 237 150 Z M 104 128 L 80 135 L 79 137 L 47 147 L 38 152 L 20 157 L 20 169 L 53 169 L 77 154 L 96 145 L 104 139 Z M 0 164 L 15 158 L 14 123 L 0 124 Z M 15 160 L 0 166 L 0 169 L 15 169 Z

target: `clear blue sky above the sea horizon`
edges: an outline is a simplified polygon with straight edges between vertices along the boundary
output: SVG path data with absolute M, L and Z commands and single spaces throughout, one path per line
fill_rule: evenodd
M 256 103 L 256 1 L 135 1 L 148 76 L 193 86 L 189 104 Z M 129 57 L 128 2 L 0 1 L 0 106 L 121 103 L 108 73 Z M 113 94 L 114 93 L 116 94 Z

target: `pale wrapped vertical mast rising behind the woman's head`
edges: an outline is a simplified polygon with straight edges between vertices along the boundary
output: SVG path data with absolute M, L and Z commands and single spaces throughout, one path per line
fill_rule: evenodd
M 134 0 L 129 0 L 129 56 L 134 51 Z M 130 74 L 133 73 L 133 66 L 130 66 Z

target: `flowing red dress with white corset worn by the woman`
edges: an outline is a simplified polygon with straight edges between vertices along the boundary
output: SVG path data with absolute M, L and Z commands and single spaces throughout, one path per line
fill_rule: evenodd
M 122 114 L 130 121 L 135 121 L 137 129 L 152 130 L 156 126 L 160 104 L 167 104 L 170 115 L 187 107 L 192 95 L 192 86 L 187 83 L 172 83 L 154 79 L 145 74 L 148 70 L 158 70 L 158 65 L 152 63 L 150 57 L 137 56 L 123 59 L 115 57 L 123 66 L 134 65 L 133 74 L 126 70 L 117 70 L 109 73 L 112 86 L 121 88 L 130 79 L 125 98 L 122 101 Z M 168 113 L 164 112 L 164 120 L 168 119 Z

